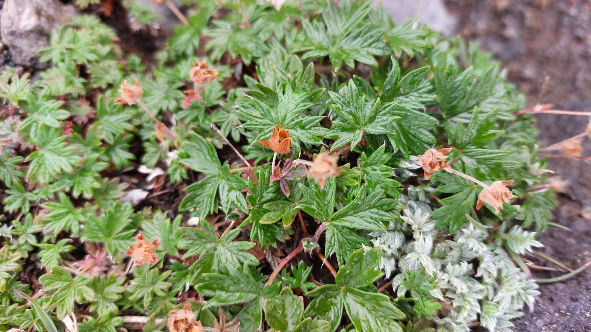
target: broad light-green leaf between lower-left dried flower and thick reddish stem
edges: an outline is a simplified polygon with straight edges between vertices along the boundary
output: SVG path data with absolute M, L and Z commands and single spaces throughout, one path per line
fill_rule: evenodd
M 185 238 L 180 242 L 179 247 L 187 249 L 183 258 L 195 255 L 213 254 L 212 269 L 215 272 L 228 273 L 228 268 L 241 271 L 242 266 L 257 265 L 258 259 L 248 252 L 255 246 L 254 242 L 234 241 L 241 232 L 235 228 L 227 234 L 218 238 L 215 229 L 207 219 L 200 218 L 199 225 L 203 231 L 193 227 L 184 227 Z

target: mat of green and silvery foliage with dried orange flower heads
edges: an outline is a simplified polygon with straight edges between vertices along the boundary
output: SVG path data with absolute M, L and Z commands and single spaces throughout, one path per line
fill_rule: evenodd
M 507 332 L 588 266 L 534 249 L 556 110 L 475 45 L 371 1 L 157 3 L 156 60 L 80 15 L 2 74 L 0 329 Z

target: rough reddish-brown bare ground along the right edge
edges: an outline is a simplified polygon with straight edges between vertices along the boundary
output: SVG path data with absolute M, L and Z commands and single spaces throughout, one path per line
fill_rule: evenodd
M 550 76 L 544 102 L 556 109 L 591 111 L 591 2 L 583 0 L 446 0 L 458 19 L 457 32 L 477 40 L 508 70 L 524 91 L 528 106 L 538 101 Z M 537 116 L 543 146 L 584 132 L 585 117 Z M 589 139 L 584 155 L 591 155 Z M 550 168 L 568 184 L 559 195 L 554 222 L 571 231 L 548 229 L 540 236 L 543 252 L 570 268 L 591 261 L 591 165 L 583 160 L 553 159 Z M 536 264 L 551 266 L 533 259 Z M 563 272 L 534 271 L 536 278 Z M 540 286 L 533 311 L 515 321 L 515 332 L 591 331 L 591 271 Z

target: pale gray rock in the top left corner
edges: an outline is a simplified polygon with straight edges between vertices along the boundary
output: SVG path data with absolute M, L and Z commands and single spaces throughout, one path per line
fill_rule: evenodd
M 2 43 L 17 65 L 43 68 L 38 52 L 49 45 L 51 31 L 76 15 L 76 8 L 57 0 L 6 0 L 0 17 Z

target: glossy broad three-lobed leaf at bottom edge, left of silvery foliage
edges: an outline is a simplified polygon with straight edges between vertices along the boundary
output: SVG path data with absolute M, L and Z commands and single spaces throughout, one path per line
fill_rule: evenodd
M 348 264 L 339 269 L 335 285 L 323 285 L 305 294 L 314 300 L 308 305 L 304 315 L 330 321 L 330 331 L 334 332 L 340 324 L 344 306 L 356 331 L 402 332 L 397 320 L 405 315 L 389 297 L 359 289 L 373 284 L 383 275 L 375 270 L 379 264 L 379 256 L 379 248 L 365 253 L 362 249 L 353 252 Z

